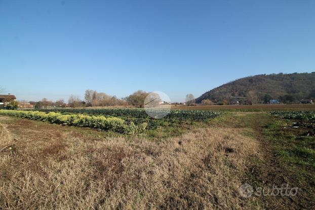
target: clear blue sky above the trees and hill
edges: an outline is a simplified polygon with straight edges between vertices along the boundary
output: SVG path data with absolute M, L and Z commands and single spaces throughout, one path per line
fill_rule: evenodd
M 315 1 L 3 1 L 0 86 L 18 99 L 172 101 L 257 74 L 315 69 Z

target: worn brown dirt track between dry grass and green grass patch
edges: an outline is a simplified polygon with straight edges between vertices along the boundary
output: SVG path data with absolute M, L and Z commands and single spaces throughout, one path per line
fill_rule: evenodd
M 248 183 L 254 187 L 272 189 L 273 186 L 281 187 L 289 184 L 291 187 L 299 187 L 297 196 L 260 196 L 259 203 L 265 209 L 309 209 L 314 207 L 314 201 L 308 193 L 309 186 L 303 186 L 296 179 L 294 171 L 283 165 L 275 155 L 275 144 L 264 134 L 264 129 L 279 120 L 274 116 L 262 113 L 238 113 L 232 114 L 228 123 L 233 127 L 248 127 L 252 129 L 250 135 L 260 144 L 261 161 L 252 161 L 249 170 Z M 232 121 L 232 123 L 231 123 Z M 275 191 L 276 192 L 276 191 Z M 312 207 L 311 207 L 312 206 Z

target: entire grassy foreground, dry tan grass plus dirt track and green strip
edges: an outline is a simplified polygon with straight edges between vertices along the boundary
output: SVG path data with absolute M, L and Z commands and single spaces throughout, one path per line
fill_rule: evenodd
M 0 208 L 311 209 L 314 138 L 293 139 L 302 131 L 284 122 L 291 123 L 229 113 L 173 136 L 157 129 L 152 138 L 0 116 Z M 302 190 L 245 198 L 244 183 Z

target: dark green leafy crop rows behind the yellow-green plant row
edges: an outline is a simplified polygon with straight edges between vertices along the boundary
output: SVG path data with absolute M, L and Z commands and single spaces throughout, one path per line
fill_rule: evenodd
M 124 118 L 150 118 L 144 109 L 54 109 L 54 110 L 40 110 L 42 112 L 60 112 L 60 113 L 81 113 L 88 115 L 103 115 L 111 117 L 124 117 Z M 163 112 L 163 110 L 154 110 L 154 112 Z M 170 121 L 204 121 L 210 118 L 217 117 L 221 112 L 209 110 L 171 110 L 165 116 L 164 120 Z M 156 114 L 158 115 L 158 113 Z

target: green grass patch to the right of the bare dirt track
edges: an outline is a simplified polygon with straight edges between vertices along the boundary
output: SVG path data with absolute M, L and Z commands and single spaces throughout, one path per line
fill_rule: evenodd
M 262 133 L 271 140 L 275 157 L 305 186 L 315 186 L 315 137 L 300 136 L 296 129 L 285 128 L 284 119 L 270 121 Z

